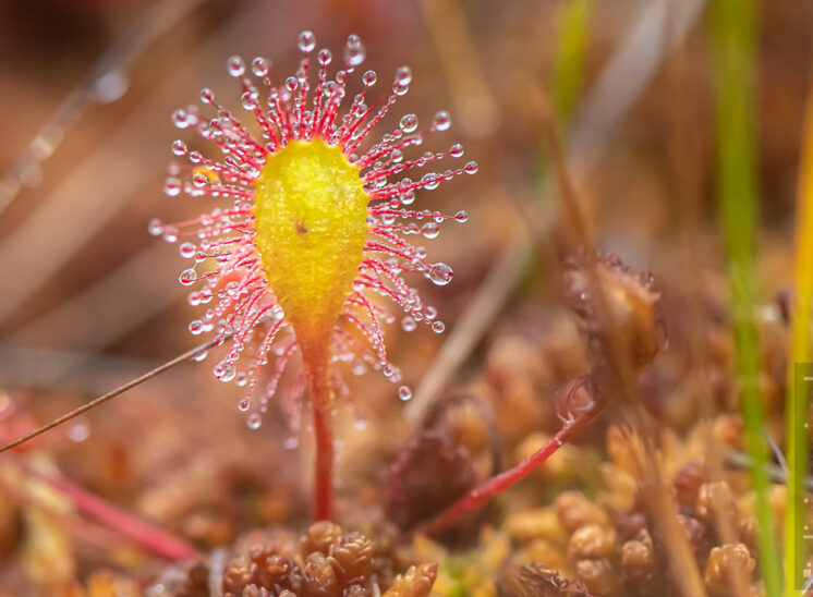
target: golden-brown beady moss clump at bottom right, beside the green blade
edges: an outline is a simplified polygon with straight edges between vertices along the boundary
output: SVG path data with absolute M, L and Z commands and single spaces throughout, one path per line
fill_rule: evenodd
M 607 483 L 598 492 L 561 491 L 550 505 L 520 509 L 506 519 L 503 531 L 513 541 L 510 558 L 517 564 L 503 566 L 499 595 L 569 596 L 579 586 L 594 597 L 677 596 L 681 583 L 670 559 L 670 541 L 685 541 L 709 597 L 764 595 L 756 563 L 754 495 L 747 474 L 728 467 L 715 471 L 704 458 L 709 450 L 707 431 L 713 436 L 711 449 L 723 450 L 737 429 L 741 434 L 737 423 L 736 416 L 726 414 L 682 439 L 663 432 L 657 459 L 675 500 L 675 527 L 662 524 L 647 504 L 646 478 L 636 465 L 643 449 L 640 438 L 609 427 L 609 459 L 602 463 Z M 726 431 L 717 432 L 721 427 Z M 782 492 L 781 486 L 772 489 L 777 520 Z M 568 578 L 568 589 L 550 588 L 550 574 Z

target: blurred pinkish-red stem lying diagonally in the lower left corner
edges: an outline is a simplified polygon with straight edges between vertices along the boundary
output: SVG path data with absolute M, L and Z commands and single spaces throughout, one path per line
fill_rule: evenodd
M 199 555 L 194 547 L 178 537 L 114 508 L 68 479 L 45 475 L 13 454 L 7 454 L 3 458 L 14 462 L 26 475 L 50 485 L 60 494 L 70 498 L 80 512 L 84 512 L 107 527 L 121 533 L 156 556 L 170 561 L 179 561 L 191 560 Z

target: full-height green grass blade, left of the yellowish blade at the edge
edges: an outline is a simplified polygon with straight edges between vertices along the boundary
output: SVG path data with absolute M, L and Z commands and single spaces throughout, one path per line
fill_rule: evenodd
M 756 494 L 760 565 L 768 597 L 781 595 L 779 557 L 768 498 L 767 447 L 760 401 L 760 346 L 754 322 L 757 219 L 754 125 L 754 0 L 713 0 L 711 4 L 716 80 L 717 183 L 726 244 L 741 385 L 745 449 L 757 463 L 751 470 Z

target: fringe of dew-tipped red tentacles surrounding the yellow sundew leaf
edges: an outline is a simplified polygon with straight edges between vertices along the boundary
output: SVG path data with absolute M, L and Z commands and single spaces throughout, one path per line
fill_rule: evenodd
M 312 56 L 316 47 L 311 32 L 299 37 L 302 59 L 294 76 L 281 84 L 275 83 L 270 61 L 256 58 L 252 61 L 248 76 L 246 65 L 240 57 L 228 60 L 229 74 L 241 84 L 243 108 L 254 114 L 256 131 L 250 131 L 226 107 L 218 103 L 210 89 L 203 89 L 201 101 L 211 106 L 217 114 L 210 120 L 202 118 L 195 106 L 177 110 L 172 120 L 179 129 L 193 127 L 198 134 L 214 142 L 222 153 L 221 160 L 204 157 L 190 150 L 183 141 L 175 141 L 172 150 L 185 156 L 191 162 L 189 179 L 182 182 L 182 168 L 170 167 L 170 178 L 165 185 L 166 194 L 211 196 L 231 200 L 227 208 L 216 208 L 189 221 L 175 224 L 150 222 L 150 233 L 161 235 L 169 242 L 183 239 L 180 253 L 193 259 L 195 266 L 180 276 L 184 285 L 204 281 L 201 290 L 189 295 L 192 305 L 209 305 L 201 319 L 190 324 L 193 334 L 215 331 L 220 342 L 231 340 L 231 350 L 215 366 L 215 376 L 222 381 L 234 380 L 247 388 L 246 398 L 240 409 L 247 411 L 252 395 L 259 382 L 260 369 L 268 363 L 269 354 L 277 357 L 259 399 L 258 409 L 250 416 L 250 427 L 258 427 L 260 414 L 266 411 L 274 397 L 286 363 L 298 350 L 294 330 L 280 334 L 288 326 L 284 313 L 269 288 L 255 243 L 254 197 L 256 181 L 266 157 L 282 149 L 292 141 L 311 142 L 321 139 L 330 146 L 340 146 L 351 165 L 360 168 L 364 191 L 369 196 L 367 208 L 367 242 L 352 292 L 347 297 L 342 314 L 335 327 L 332 360 L 350 364 L 351 370 L 360 375 L 368 365 L 383 369 L 391 381 L 399 382 L 400 371 L 387 358 L 381 324 L 392 322 L 395 317 L 385 308 L 374 304 L 365 294 L 373 291 L 395 301 L 404 312 L 401 326 L 412 331 L 418 322 L 425 322 L 440 333 L 444 324 L 437 320 L 437 310 L 425 305 L 417 291 L 401 278 L 402 272 L 417 271 L 434 283 L 444 285 L 452 278 L 446 264 L 426 261 L 426 251 L 404 240 L 410 234 L 422 234 L 434 239 L 439 234 L 438 224 L 453 218 L 459 222 L 468 219 L 464 211 L 445 216 L 439 211 L 413 210 L 415 191 L 433 190 L 441 182 L 461 173 L 474 173 L 477 165 L 465 166 L 444 172 L 424 173 L 420 180 L 393 176 L 408 170 L 423 168 L 444 158 L 460 158 L 463 148 L 452 145 L 447 151 L 427 151 L 415 159 L 404 159 L 403 151 L 420 146 L 429 132 L 446 131 L 450 126 L 448 112 L 437 112 L 428 130 L 418 130 L 417 118 L 406 114 L 399 125 L 366 150 L 363 144 L 369 138 L 375 125 L 389 112 L 412 81 L 408 66 L 396 72 L 391 92 L 367 105 L 367 94 L 375 85 L 377 75 L 366 71 L 361 76 L 362 90 L 355 95 L 347 112 L 341 108 L 348 93 L 350 74 L 356 72 L 364 61 L 365 49 L 357 36 L 351 35 L 344 48 L 344 66 L 328 77 L 331 52 L 316 52 L 316 83 L 311 87 Z M 258 83 L 258 84 L 257 84 Z M 260 94 L 260 88 L 264 93 Z M 310 102 L 310 103 L 308 103 Z M 265 105 L 264 105 L 265 103 Z M 257 330 L 262 332 L 257 333 Z M 256 336 L 256 337 L 255 337 Z M 276 340 L 276 342 L 275 342 Z M 248 366 L 238 371 L 235 362 L 240 353 L 251 353 Z M 344 394 L 343 382 L 333 375 L 333 387 Z M 300 378 L 290 392 L 292 413 L 298 412 L 305 383 Z M 405 386 L 399 388 L 399 397 L 409 400 L 411 392 Z

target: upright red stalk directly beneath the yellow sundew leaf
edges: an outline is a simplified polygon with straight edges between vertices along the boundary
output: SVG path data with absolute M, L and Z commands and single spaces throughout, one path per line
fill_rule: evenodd
M 316 439 L 314 520 L 329 521 L 333 515 L 333 430 L 327 367 L 319 367 L 311 379 L 311 403 Z

